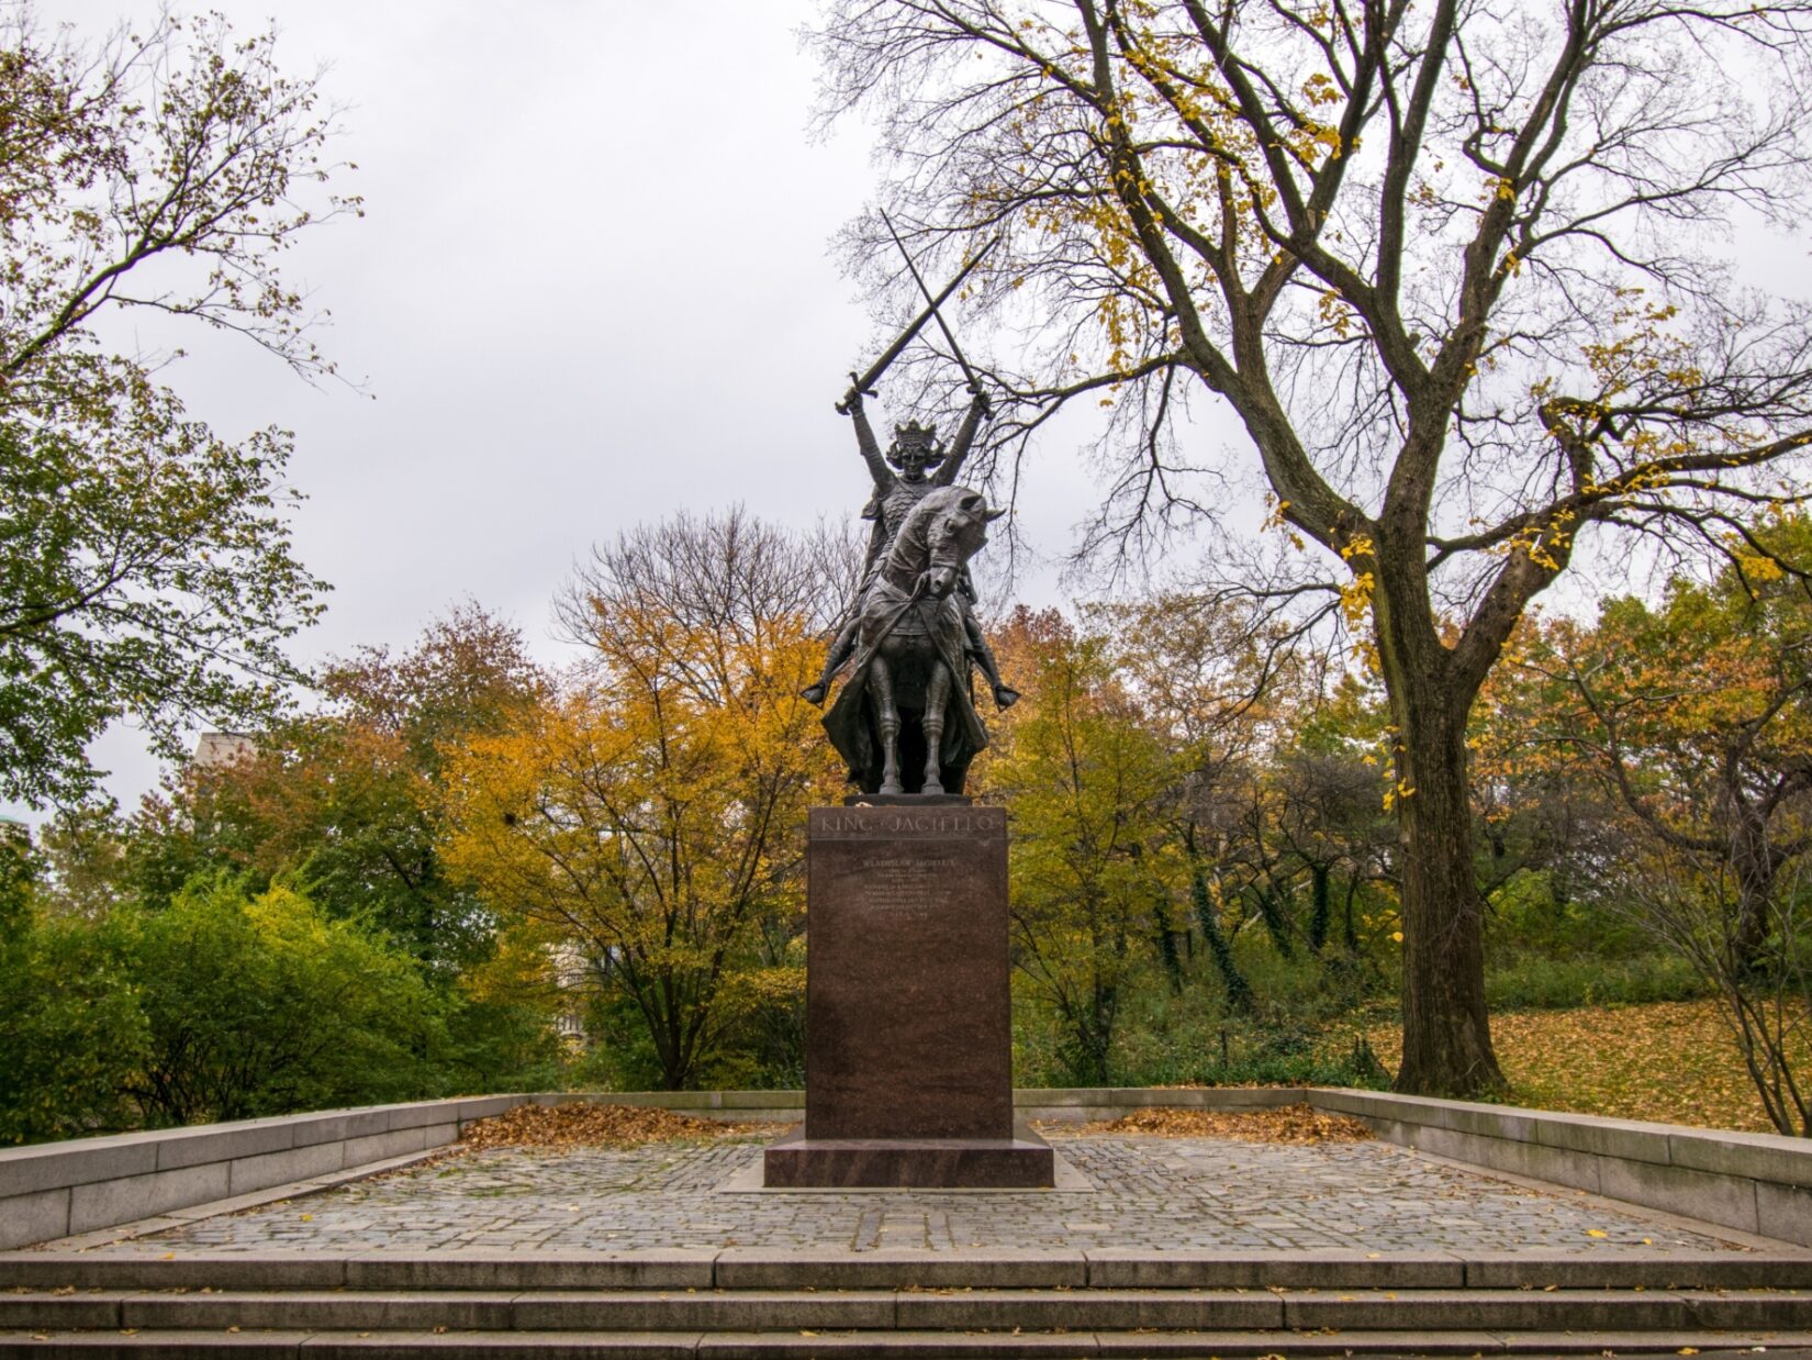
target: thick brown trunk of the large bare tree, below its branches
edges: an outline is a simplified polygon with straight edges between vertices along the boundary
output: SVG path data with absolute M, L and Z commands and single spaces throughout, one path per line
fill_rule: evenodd
M 1471 695 L 1448 649 L 1393 635 L 1379 611 L 1384 689 L 1397 725 L 1397 847 L 1402 881 L 1402 1066 L 1410 1095 L 1484 1095 L 1504 1086 L 1484 1005 L 1484 899 L 1473 876 L 1466 714 Z M 1426 627 L 1426 624 L 1424 624 Z M 1457 693 L 1459 691 L 1459 693 Z

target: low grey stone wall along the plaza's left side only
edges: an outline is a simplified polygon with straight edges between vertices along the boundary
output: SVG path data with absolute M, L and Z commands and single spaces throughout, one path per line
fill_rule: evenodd
M 426 1151 L 529 1095 L 326 1110 L 0 1150 L 0 1248 Z

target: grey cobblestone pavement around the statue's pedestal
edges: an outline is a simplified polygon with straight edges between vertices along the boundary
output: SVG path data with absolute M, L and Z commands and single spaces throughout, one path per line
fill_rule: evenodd
M 962 1248 L 1718 1249 L 1714 1228 L 1538 1191 L 1388 1142 L 1064 1137 L 1093 1191 L 737 1191 L 757 1141 L 493 1150 L 109 1251 Z

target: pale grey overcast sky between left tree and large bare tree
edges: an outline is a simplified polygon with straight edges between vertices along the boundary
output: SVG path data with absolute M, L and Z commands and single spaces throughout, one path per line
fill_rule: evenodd
M 806 134 L 810 0 L 527 0 L 507 20 L 489 0 L 205 7 L 241 31 L 275 20 L 286 73 L 328 67 L 359 165 L 335 187 L 366 199 L 364 219 L 297 238 L 288 268 L 370 395 L 194 330 L 170 374 L 221 432 L 295 432 L 299 557 L 335 586 L 303 660 L 406 646 L 471 597 L 558 662 L 549 598 L 594 540 L 681 506 L 803 526 L 863 504 L 832 403 L 881 337 L 828 241 L 875 172 L 861 127 Z M 98 36 L 156 11 L 40 15 Z M 1060 555 L 1087 499 L 1053 459 L 1022 535 Z M 156 780 L 132 733 L 96 754 L 127 805 Z

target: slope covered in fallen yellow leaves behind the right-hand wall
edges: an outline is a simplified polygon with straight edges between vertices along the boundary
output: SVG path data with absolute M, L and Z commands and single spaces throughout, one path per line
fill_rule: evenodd
M 1515 1104 L 1776 1132 L 1711 1001 L 1493 1015 L 1491 1037 Z M 1395 1068 L 1401 1032 L 1370 1039 Z

